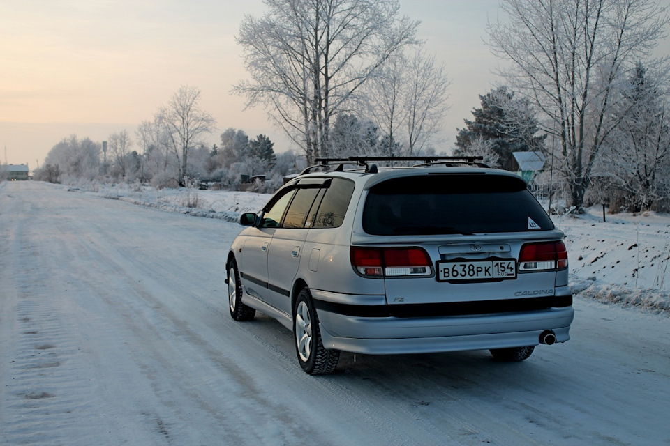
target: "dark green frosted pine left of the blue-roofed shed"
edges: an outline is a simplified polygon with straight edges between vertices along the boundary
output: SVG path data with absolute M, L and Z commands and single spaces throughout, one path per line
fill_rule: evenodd
M 466 127 L 456 129 L 454 155 L 477 155 L 475 148 L 483 148 L 482 141 L 488 141 L 486 151 L 496 153 L 495 164 L 510 170 L 512 153 L 542 150 L 546 135 L 537 135 L 537 118 L 529 100 L 516 98 L 505 86 L 479 95 L 479 100 L 482 107 L 472 110 L 474 121 L 466 119 Z

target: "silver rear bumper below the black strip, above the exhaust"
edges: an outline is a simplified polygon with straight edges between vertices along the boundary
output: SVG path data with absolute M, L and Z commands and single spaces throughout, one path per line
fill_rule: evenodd
M 574 309 L 421 318 L 319 311 L 318 316 L 325 348 L 385 355 L 535 346 L 544 330 L 553 330 L 556 341 L 565 342 Z

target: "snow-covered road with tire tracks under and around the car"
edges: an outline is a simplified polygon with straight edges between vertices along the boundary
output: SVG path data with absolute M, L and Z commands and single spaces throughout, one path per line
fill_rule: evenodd
M 572 339 L 343 354 L 308 376 L 290 332 L 236 323 L 237 224 L 0 183 L 1 445 L 661 445 L 667 314 L 576 298 Z

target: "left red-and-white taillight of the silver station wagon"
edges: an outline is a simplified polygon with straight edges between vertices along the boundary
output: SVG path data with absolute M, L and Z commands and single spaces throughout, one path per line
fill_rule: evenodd
M 431 258 L 420 247 L 352 247 L 351 264 L 365 277 L 433 274 Z

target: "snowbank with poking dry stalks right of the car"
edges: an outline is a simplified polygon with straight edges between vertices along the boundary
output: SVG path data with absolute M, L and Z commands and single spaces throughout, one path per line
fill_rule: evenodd
M 670 215 L 652 212 L 554 218 L 565 232 L 570 288 L 582 298 L 670 312 Z

